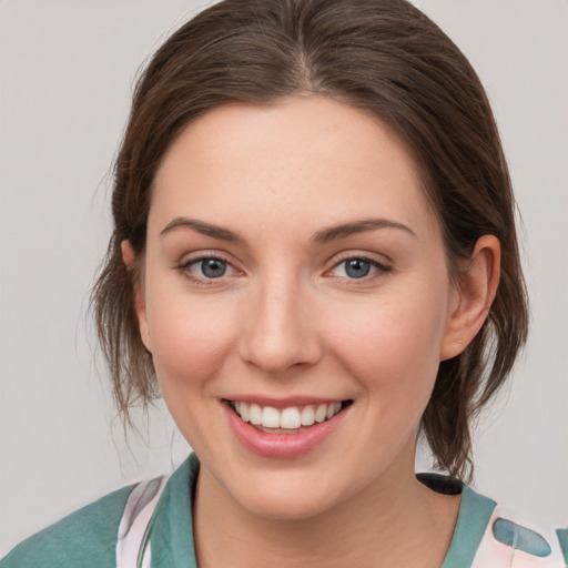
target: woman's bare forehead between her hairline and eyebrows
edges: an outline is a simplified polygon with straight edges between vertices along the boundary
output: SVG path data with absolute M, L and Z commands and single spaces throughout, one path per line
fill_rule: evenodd
M 381 215 L 432 229 L 420 180 L 402 140 L 361 110 L 322 97 L 232 104 L 200 116 L 168 150 L 150 221 L 214 213 L 225 224 L 236 214 L 278 224 L 286 213 L 328 225 Z

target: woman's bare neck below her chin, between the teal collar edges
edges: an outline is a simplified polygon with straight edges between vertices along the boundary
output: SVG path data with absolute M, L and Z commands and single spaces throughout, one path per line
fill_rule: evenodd
M 205 470 L 195 495 L 200 568 L 439 567 L 452 540 L 459 497 L 433 493 L 414 476 L 389 476 L 310 518 L 257 517 Z

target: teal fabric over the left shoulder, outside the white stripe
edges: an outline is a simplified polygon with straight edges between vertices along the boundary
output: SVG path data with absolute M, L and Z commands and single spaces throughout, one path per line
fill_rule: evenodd
M 119 525 L 135 486 L 113 491 L 26 539 L 0 568 L 115 566 Z

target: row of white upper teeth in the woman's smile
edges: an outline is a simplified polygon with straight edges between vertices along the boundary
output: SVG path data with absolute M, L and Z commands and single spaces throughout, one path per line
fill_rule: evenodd
M 331 403 L 321 405 L 307 405 L 302 409 L 297 406 L 291 406 L 278 410 L 272 406 L 260 406 L 257 404 L 243 403 L 235 400 L 234 409 L 244 422 L 250 422 L 255 426 L 265 428 L 283 428 L 295 430 L 302 426 L 312 426 L 314 423 L 323 423 L 333 418 L 341 409 L 342 403 Z

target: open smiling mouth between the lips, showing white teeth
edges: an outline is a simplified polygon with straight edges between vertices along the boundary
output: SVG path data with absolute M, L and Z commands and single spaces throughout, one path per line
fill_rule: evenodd
M 265 434 L 298 434 L 331 420 L 353 404 L 352 399 L 274 408 L 243 400 L 224 399 L 241 420 Z

